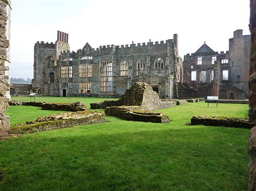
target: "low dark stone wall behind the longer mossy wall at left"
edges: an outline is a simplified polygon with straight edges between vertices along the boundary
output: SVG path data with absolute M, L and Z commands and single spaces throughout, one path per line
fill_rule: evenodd
M 81 102 L 74 103 L 46 103 L 46 102 L 19 102 L 10 100 L 9 105 L 26 105 L 40 107 L 42 110 L 58 110 L 58 111 L 86 111 L 85 104 Z

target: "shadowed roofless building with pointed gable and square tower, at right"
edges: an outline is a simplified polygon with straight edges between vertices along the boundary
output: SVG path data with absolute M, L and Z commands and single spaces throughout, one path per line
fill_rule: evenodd
M 229 50 L 215 52 L 205 43 L 184 56 L 184 79 L 178 83 L 182 97 L 219 96 L 221 99 L 248 98 L 251 36 L 234 31 Z

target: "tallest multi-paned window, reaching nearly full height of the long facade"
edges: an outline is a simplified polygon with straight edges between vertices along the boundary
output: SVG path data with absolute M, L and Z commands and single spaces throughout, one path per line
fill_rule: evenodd
M 116 91 L 116 62 L 100 62 L 99 91 Z

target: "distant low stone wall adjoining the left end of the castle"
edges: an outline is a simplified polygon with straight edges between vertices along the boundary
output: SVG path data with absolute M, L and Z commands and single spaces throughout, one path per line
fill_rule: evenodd
M 10 94 L 11 96 L 29 95 L 32 93 L 31 84 L 11 83 Z

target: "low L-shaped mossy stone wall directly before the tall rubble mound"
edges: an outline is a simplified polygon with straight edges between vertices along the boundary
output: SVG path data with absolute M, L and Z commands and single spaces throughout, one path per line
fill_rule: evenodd
M 156 112 L 143 111 L 139 106 L 115 106 L 107 107 L 105 114 L 116 116 L 127 121 L 168 123 L 168 116 Z

